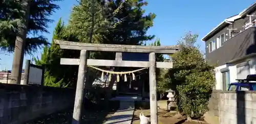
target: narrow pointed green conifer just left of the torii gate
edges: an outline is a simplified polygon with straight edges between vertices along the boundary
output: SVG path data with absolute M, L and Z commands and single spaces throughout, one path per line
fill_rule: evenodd
M 66 87 L 68 85 L 62 78 L 63 71 L 59 71 L 59 68 L 62 68 L 62 65 L 60 65 L 60 58 L 63 56 L 63 50 L 61 50 L 59 45 L 55 44 L 53 41 L 54 39 L 62 39 L 64 30 L 65 25 L 60 18 L 53 32 L 51 45 L 44 46 L 44 51 L 41 54 L 40 60 L 34 58 L 37 65 L 46 66 L 44 78 L 45 86 Z

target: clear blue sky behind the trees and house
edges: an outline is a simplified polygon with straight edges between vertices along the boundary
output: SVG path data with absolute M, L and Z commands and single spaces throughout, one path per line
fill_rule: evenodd
M 204 42 L 201 38 L 206 35 L 211 29 L 215 28 L 225 18 L 238 14 L 243 9 L 247 8 L 255 0 L 148 0 L 148 6 L 145 7 L 146 13 L 155 13 L 154 27 L 147 33 L 156 35 L 160 38 L 162 45 L 174 45 L 177 43 L 186 31 L 191 31 L 199 35 L 198 44 L 204 52 Z M 56 3 L 60 5 L 60 10 L 57 10 L 51 19 L 55 20 L 49 24 L 49 34 L 43 34 L 48 38 L 49 42 L 52 39 L 52 33 L 56 23 L 60 17 L 65 22 L 68 22 L 72 6 L 77 4 L 76 0 L 63 0 Z M 148 41 L 150 43 L 152 41 Z M 41 50 L 33 56 L 40 58 Z M 25 56 L 24 60 L 31 59 L 33 56 Z M 13 54 L 0 55 L 0 69 L 11 69 Z M 25 62 L 24 62 L 25 63 Z

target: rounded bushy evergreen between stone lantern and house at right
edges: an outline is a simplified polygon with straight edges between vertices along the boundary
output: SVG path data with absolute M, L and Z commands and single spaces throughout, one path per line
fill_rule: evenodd
M 166 79 L 176 91 L 179 111 L 191 118 L 200 118 L 208 110 L 208 100 L 215 84 L 214 67 L 206 63 L 198 46 L 198 35 L 187 33 L 179 42 L 180 51 L 172 55 L 174 68 Z

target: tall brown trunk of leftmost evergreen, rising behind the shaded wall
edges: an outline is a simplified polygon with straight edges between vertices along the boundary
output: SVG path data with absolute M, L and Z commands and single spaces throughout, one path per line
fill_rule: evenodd
M 23 67 L 23 59 L 25 53 L 26 46 L 26 36 L 27 36 L 27 27 L 28 27 L 28 19 L 29 19 L 29 11 L 30 11 L 30 1 L 31 0 L 23 0 L 21 5 L 24 10 L 23 18 L 22 18 L 22 27 L 18 28 L 18 33 L 15 40 L 14 54 L 13 54 L 13 62 L 12 62 L 12 72 L 11 72 L 11 84 L 20 84 L 20 80 L 22 78 L 22 67 Z

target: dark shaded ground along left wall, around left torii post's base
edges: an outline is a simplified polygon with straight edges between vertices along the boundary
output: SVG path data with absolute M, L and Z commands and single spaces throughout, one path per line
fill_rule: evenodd
M 111 105 L 112 106 L 94 105 L 93 107 L 91 106 L 91 109 L 88 109 L 88 107 L 84 108 L 82 110 L 81 123 L 101 124 L 105 122 L 106 119 L 110 118 L 110 115 L 113 114 L 119 107 L 116 106 L 118 103 L 111 103 Z M 30 122 L 26 122 L 26 124 L 70 124 L 73 120 L 72 116 L 73 107 L 37 118 Z

